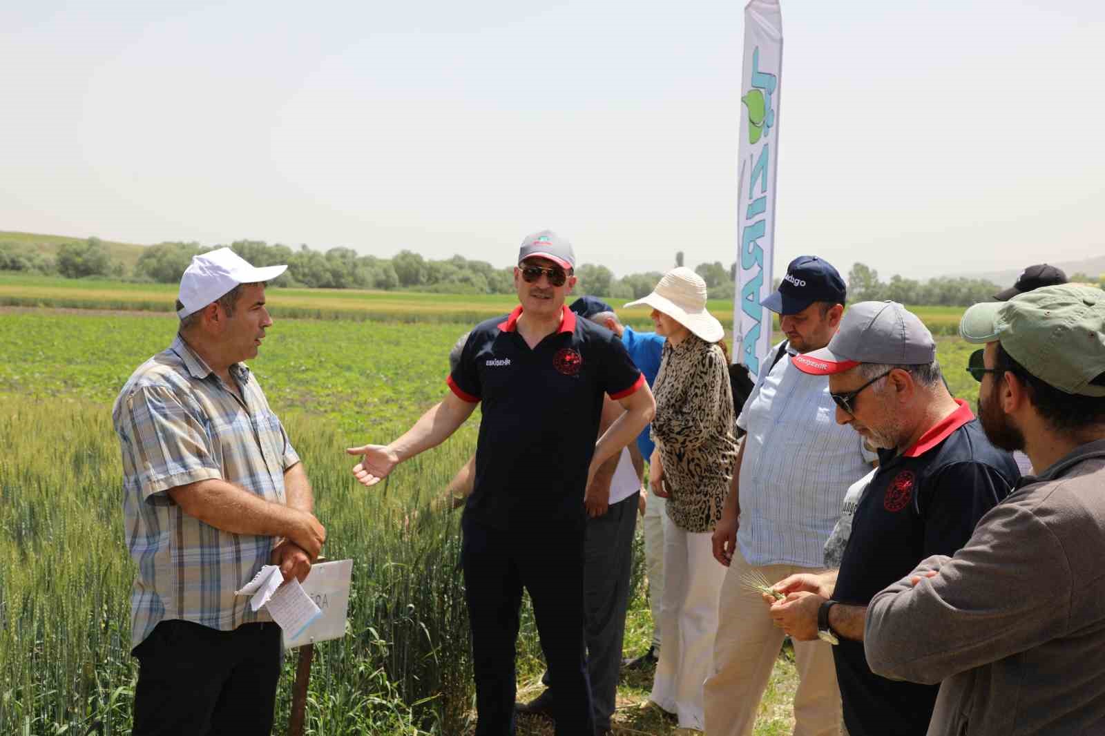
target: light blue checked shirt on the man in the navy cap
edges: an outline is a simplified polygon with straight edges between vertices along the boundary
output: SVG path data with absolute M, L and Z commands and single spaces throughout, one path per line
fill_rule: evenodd
M 803 374 L 789 357 L 760 377 L 745 402 L 737 418 L 748 432 L 737 544 L 749 565 L 824 566 L 844 494 L 877 460 L 835 416 L 829 377 Z

